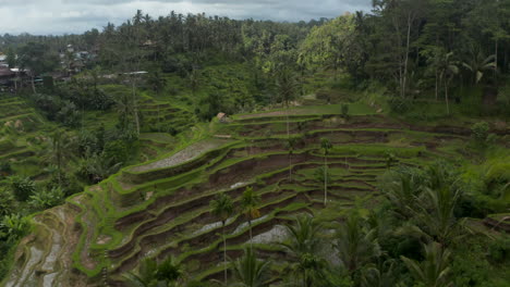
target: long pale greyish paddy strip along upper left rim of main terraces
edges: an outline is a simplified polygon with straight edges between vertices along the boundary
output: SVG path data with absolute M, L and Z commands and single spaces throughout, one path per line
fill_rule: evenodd
M 168 157 L 159 161 L 155 161 L 148 164 L 144 165 L 138 165 L 133 169 L 131 169 L 132 172 L 147 172 L 151 170 L 158 170 L 158 169 L 163 169 L 163 167 L 169 167 L 173 165 L 181 164 L 183 162 L 193 160 L 197 158 L 198 155 L 216 149 L 218 147 L 221 147 L 222 145 L 229 142 L 227 139 L 207 139 L 207 140 L 202 140 L 198 141 L 194 145 L 191 145 L 190 147 Z

